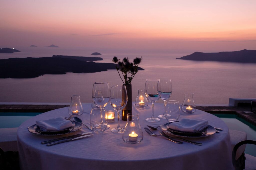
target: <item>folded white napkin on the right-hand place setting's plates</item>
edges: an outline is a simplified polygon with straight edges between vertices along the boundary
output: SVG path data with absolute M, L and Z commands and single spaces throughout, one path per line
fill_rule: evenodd
M 169 128 L 180 132 L 200 132 L 208 126 L 208 121 L 182 119 L 179 122 L 169 124 Z

